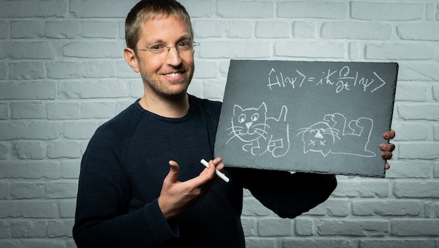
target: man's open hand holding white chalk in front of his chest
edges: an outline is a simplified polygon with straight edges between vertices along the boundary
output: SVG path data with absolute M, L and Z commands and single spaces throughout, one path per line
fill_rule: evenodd
M 158 199 L 160 210 L 162 210 L 165 219 L 182 214 L 203 199 L 218 179 L 215 169 L 224 168 L 224 164 L 220 163 L 221 158 L 219 157 L 210 160 L 209 168 L 201 171 L 199 176 L 180 182 L 177 179 L 180 166 L 175 161 L 169 161 L 171 169 L 163 180 L 162 191 Z

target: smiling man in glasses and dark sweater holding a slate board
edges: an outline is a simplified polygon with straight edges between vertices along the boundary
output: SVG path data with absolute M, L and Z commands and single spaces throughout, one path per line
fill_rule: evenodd
M 137 3 L 124 57 L 144 95 L 93 135 L 82 159 L 78 247 L 245 247 L 242 189 L 280 217 L 328 199 L 332 175 L 224 168 L 213 157 L 220 102 L 186 93 L 194 73 L 190 17 L 174 0 Z M 386 132 L 392 139 L 394 132 Z M 381 144 L 392 157 L 392 144 Z M 210 160 L 209 168 L 199 161 Z M 218 180 L 215 169 L 231 178 Z

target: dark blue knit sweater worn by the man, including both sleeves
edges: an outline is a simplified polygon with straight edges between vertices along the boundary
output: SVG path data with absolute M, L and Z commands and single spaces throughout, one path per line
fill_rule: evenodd
M 199 175 L 200 160 L 213 159 L 220 109 L 220 102 L 190 96 L 185 116 L 164 118 L 137 101 L 99 127 L 82 158 L 77 246 L 245 247 L 243 187 L 281 217 L 328 198 L 337 184 L 332 176 L 226 168 L 229 183 L 218 180 L 194 208 L 167 222 L 157 199 L 168 162 L 180 165 L 180 181 Z

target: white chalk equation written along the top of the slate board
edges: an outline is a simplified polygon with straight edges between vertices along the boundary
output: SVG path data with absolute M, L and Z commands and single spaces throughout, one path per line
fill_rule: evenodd
M 344 66 L 340 70 L 322 72 L 322 75 L 305 75 L 300 70 L 293 70 L 293 75 L 286 75 L 275 68 L 268 73 L 267 86 L 273 88 L 301 88 L 302 86 L 334 86 L 335 92 L 351 91 L 353 88 L 360 87 L 362 91 L 373 93 L 385 86 L 386 82 L 376 72 L 372 72 L 371 77 L 360 77 L 358 72 L 351 72 L 349 66 Z

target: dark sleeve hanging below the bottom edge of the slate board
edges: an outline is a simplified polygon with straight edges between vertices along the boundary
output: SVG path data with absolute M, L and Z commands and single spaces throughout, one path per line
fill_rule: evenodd
M 337 187 L 333 175 L 238 168 L 231 171 L 234 180 L 283 218 L 294 218 L 315 208 Z

